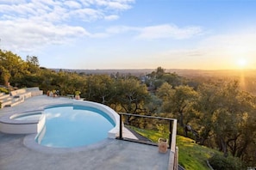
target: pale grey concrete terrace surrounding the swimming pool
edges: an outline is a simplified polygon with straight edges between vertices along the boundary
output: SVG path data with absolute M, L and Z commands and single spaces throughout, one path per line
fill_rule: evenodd
M 41 110 L 53 104 L 71 103 L 72 99 L 34 96 L 20 105 L 4 107 L 0 117 L 9 113 Z M 140 143 L 106 139 L 101 143 L 76 149 L 53 149 L 34 142 L 34 135 L 11 135 L 0 132 L 1 170 L 99 170 L 133 169 L 166 170 L 169 153 L 160 154 L 158 148 Z

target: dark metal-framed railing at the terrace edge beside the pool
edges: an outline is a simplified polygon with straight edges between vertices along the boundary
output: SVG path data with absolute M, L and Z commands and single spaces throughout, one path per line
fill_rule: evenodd
M 119 115 L 120 115 L 120 125 L 119 125 L 119 137 L 116 137 L 117 139 L 134 142 L 134 143 L 143 143 L 143 144 L 148 144 L 148 145 L 154 145 L 154 146 L 157 146 L 158 144 L 123 137 L 123 135 L 122 135 L 123 127 L 124 127 L 123 116 L 125 115 L 125 116 L 129 116 L 129 117 L 137 117 L 137 118 L 154 118 L 154 119 L 169 121 L 169 128 L 168 128 L 169 129 L 168 149 L 170 149 L 169 169 L 170 170 L 178 169 L 178 147 L 176 146 L 177 119 L 153 117 L 153 116 L 131 114 L 131 113 L 124 113 L 124 112 L 119 112 Z

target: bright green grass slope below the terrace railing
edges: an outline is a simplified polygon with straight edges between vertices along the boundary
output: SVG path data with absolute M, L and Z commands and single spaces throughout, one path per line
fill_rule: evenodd
M 130 128 L 140 135 L 149 138 L 154 143 L 157 143 L 159 137 L 163 137 L 158 131 Z M 164 137 L 168 138 L 168 134 L 165 133 Z M 206 161 L 218 152 L 215 149 L 198 145 L 194 140 L 182 136 L 177 136 L 176 144 L 178 146 L 178 163 L 186 170 L 209 170 Z

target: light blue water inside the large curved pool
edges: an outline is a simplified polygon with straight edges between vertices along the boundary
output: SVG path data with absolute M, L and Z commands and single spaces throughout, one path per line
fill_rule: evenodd
M 47 121 L 37 142 L 53 148 L 74 148 L 97 143 L 108 137 L 114 121 L 97 108 L 55 106 L 45 111 Z M 40 140 L 39 140 L 40 139 Z

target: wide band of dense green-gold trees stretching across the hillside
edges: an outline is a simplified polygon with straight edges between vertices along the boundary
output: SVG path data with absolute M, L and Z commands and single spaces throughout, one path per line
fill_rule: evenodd
M 63 96 L 80 91 L 85 100 L 111 106 L 116 112 L 177 118 L 180 135 L 240 158 L 247 166 L 256 165 L 256 97 L 231 79 L 190 80 L 161 67 L 143 81 L 119 73 L 53 71 L 40 67 L 35 56 L 23 61 L 12 52 L 0 50 L 0 84 L 9 90 L 39 87 L 47 93 L 58 89 Z M 128 121 L 132 119 L 134 124 L 150 124 L 131 117 Z

